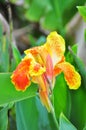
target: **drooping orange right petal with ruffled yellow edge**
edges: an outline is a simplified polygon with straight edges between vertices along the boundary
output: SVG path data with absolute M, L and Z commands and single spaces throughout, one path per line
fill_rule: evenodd
M 63 71 L 69 88 L 78 89 L 81 85 L 81 77 L 75 68 L 68 62 L 60 63 L 58 67 Z

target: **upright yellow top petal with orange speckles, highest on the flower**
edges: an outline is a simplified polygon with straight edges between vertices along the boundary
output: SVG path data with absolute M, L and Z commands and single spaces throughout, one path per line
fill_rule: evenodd
M 51 32 L 47 37 L 47 42 L 45 43 L 45 48 L 52 57 L 53 65 L 60 62 L 62 56 L 65 52 L 65 41 L 64 39 L 57 33 Z

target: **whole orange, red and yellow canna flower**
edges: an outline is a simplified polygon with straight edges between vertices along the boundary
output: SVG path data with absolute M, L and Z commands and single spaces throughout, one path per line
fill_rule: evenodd
M 57 75 L 61 72 L 64 73 L 64 78 L 70 89 L 78 89 L 81 84 L 79 73 L 65 61 L 64 53 L 64 39 L 57 32 L 51 32 L 44 45 L 25 51 L 26 56 L 11 76 L 15 88 L 25 91 L 31 82 L 37 83 L 40 99 L 50 111 L 49 95 L 52 93 Z

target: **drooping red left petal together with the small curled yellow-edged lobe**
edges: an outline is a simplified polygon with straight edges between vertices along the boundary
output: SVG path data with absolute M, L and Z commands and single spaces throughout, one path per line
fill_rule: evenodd
M 13 72 L 11 81 L 17 90 L 25 91 L 31 83 L 32 76 L 40 76 L 45 71 L 45 67 L 37 63 L 31 54 L 28 54 Z

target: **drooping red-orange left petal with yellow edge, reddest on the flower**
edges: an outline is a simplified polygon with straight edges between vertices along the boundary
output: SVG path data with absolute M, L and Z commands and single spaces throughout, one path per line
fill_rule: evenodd
M 30 77 L 28 74 L 29 66 L 30 60 L 22 60 L 16 70 L 13 72 L 11 81 L 17 90 L 24 91 L 30 85 Z

